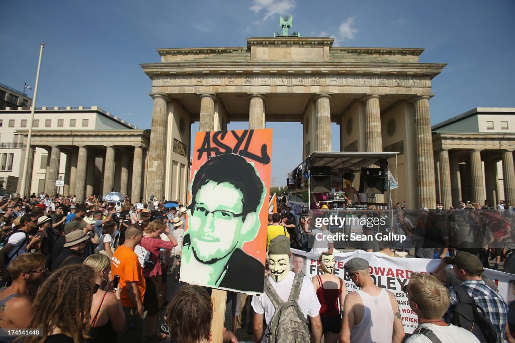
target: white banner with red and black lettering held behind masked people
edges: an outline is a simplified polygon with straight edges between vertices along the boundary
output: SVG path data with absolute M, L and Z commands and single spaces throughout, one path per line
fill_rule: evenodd
M 318 254 L 297 249 L 291 249 L 291 254 L 305 258 L 303 271 L 307 277 L 312 278 L 317 274 L 322 274 L 318 268 Z M 344 280 L 348 293 L 356 291 L 357 287 L 347 277 L 344 264 L 354 257 L 361 257 L 368 261 L 370 276 L 374 283 L 393 293 L 399 302 L 404 332 L 412 333 L 418 327 L 417 315 L 409 308 L 408 299 L 403 289 L 412 273 L 433 272 L 440 265 L 440 260 L 388 257 L 381 252 L 366 252 L 363 250 L 340 252 L 334 254 L 334 256 L 336 259 L 334 274 Z M 499 285 L 500 295 L 508 302 L 510 281 L 514 280 L 515 276 L 491 269 L 485 269 L 485 275 L 496 281 Z

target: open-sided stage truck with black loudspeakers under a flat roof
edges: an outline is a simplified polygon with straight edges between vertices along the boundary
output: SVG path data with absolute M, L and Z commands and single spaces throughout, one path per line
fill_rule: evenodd
M 392 229 L 390 198 L 398 186 L 388 170 L 397 154 L 314 152 L 304 159 L 287 178 L 297 243 L 304 249 L 313 245 L 315 236 L 304 234 L 301 223 L 310 218 L 312 228 L 329 229 L 336 249 L 364 248 L 370 240 L 398 244 L 402 232 Z

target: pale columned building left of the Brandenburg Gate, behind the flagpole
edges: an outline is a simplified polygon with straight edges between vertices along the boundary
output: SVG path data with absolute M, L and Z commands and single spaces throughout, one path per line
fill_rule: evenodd
M 0 178 L 21 180 L 30 111 L 8 108 L 0 120 Z M 84 194 L 118 191 L 140 200 L 148 131 L 97 106 L 38 108 L 32 128 L 27 186 L 21 190 L 19 182 L 19 193 L 75 194 L 82 200 Z

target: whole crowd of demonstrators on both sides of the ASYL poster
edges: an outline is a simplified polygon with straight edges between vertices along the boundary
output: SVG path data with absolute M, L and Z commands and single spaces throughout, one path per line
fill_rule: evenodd
M 196 194 L 194 211 L 216 212 L 199 207 L 209 203 L 200 203 L 203 193 Z M 173 205 L 154 198 L 137 205 L 128 198 L 104 202 L 95 196 L 79 204 L 74 196 L 46 194 L 0 204 L 0 272 L 5 283 L 0 291 L 0 329 L 41 329 L 40 336 L 26 337 L 27 342 L 140 342 L 169 336 L 178 342 L 209 341 L 213 304 L 204 287 L 181 285 L 170 303 L 166 301 L 167 276 L 180 279 L 183 243 L 184 249 L 191 249 L 193 243 L 184 237 L 191 212 L 179 200 Z M 495 223 L 506 227 L 486 234 L 485 249 L 492 244 L 490 236 L 495 241 L 513 234 L 509 225 L 482 209 L 467 211 L 465 218 L 473 223 L 474 237 L 481 236 L 479 231 L 492 231 Z M 396 213 L 398 228 L 415 243 L 417 237 L 427 238 L 419 231 L 435 224 L 432 219 L 433 214 L 422 209 L 414 225 L 403 210 Z M 322 243 L 310 251 L 319 256 L 321 274 L 308 278 L 303 273 L 304 259 L 292 255 L 291 247 L 308 250 L 305 237 L 329 236 L 327 226 L 315 228 L 309 214 L 296 225 L 287 206 L 268 220 L 264 294 L 248 297 L 248 301 L 242 294 L 229 294 L 233 309 L 250 303 L 256 342 L 321 342 L 322 337 L 326 343 L 404 339 L 398 301 L 374 284 L 366 260 L 353 258 L 345 263 L 345 277 L 358 288 L 349 292 L 345 280 L 334 274 L 333 242 L 316 240 Z M 452 237 L 446 239 L 452 247 Z M 391 244 L 376 249 L 370 246 L 369 251 L 389 256 L 403 252 Z M 435 257 L 435 249 L 424 249 L 424 245 L 415 245 L 415 256 Z M 495 341 L 512 342 L 514 323 L 509 323 L 508 306 L 495 284 L 483 277 L 484 252 L 475 254 L 464 247 L 436 252 L 440 267 L 432 275 L 415 273 L 405 288 L 419 322 L 406 341 L 435 341 L 434 337 L 441 342 L 454 342 L 457 337 L 478 341 L 477 335 L 455 325 L 455 309 L 464 302 L 461 294 L 465 292 L 483 309 Z M 452 269 L 445 268 L 449 264 Z M 167 324 L 163 330 L 157 329 L 161 309 Z M 239 311 L 232 312 L 235 331 Z M 144 332 L 146 337 L 142 337 Z M 14 338 L 2 336 L 0 341 Z M 224 329 L 227 340 L 237 342 Z

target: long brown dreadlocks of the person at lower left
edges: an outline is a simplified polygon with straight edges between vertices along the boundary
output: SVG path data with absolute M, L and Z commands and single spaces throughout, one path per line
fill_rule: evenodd
M 27 337 L 26 342 L 44 342 L 58 327 L 75 343 L 89 337 L 91 302 L 95 272 L 88 265 L 64 266 L 41 285 L 32 305 L 34 316 L 29 328 L 42 328 L 42 337 Z

